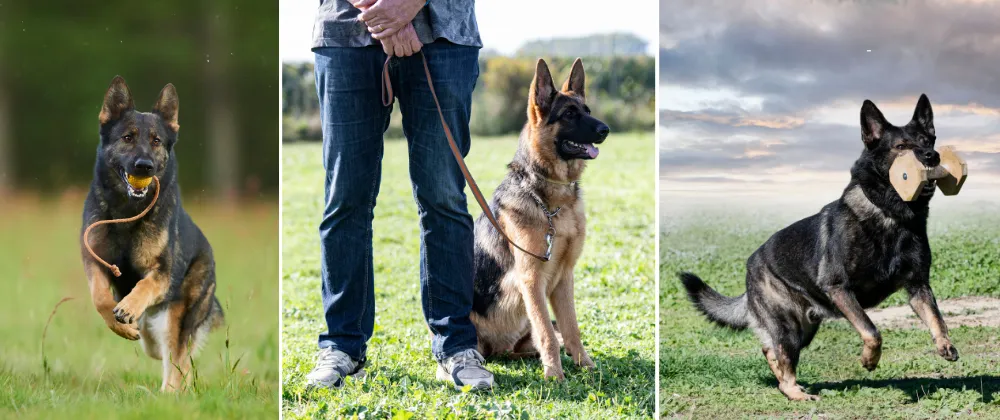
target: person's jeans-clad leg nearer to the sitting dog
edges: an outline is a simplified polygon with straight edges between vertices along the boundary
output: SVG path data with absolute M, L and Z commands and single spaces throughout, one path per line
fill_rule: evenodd
M 445 120 L 462 154 L 469 152 L 472 91 L 479 49 L 448 42 L 423 47 Z M 420 55 L 398 62 L 403 131 L 409 141 L 410 180 L 420 214 L 420 285 L 424 317 L 438 361 L 476 348 L 472 311 L 473 226 L 465 179 L 448 146 Z

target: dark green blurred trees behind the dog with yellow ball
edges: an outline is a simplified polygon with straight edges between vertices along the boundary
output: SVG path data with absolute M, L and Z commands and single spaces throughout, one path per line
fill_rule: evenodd
M 177 87 L 186 194 L 275 195 L 278 2 L 86 3 L 0 2 L 0 194 L 86 188 L 121 75 L 140 111 Z

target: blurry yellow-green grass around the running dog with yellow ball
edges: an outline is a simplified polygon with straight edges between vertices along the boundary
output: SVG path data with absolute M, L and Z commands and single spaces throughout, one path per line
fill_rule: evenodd
M 78 247 L 82 203 L 68 193 L 0 206 L 0 417 L 274 418 L 277 206 L 187 203 L 215 251 L 226 327 L 195 358 L 194 389 L 170 395 L 159 393 L 160 362 L 94 310 Z M 65 297 L 73 299 L 52 315 L 43 361 L 43 329 Z

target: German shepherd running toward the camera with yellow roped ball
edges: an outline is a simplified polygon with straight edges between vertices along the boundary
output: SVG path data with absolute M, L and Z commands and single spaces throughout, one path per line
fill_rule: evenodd
M 121 277 L 98 264 L 80 238 L 97 313 L 115 334 L 140 340 L 146 354 L 163 361 L 160 389 L 168 392 L 191 383 L 194 352 L 209 330 L 223 324 L 212 247 L 181 206 L 177 111 L 171 84 L 147 113 L 135 110 L 124 79 L 112 80 L 99 116 L 101 141 L 83 227 L 132 217 L 149 205 L 150 185 L 134 188 L 130 176 L 159 177 L 159 200 L 138 221 L 97 226 L 90 234 L 94 252 L 120 267 Z

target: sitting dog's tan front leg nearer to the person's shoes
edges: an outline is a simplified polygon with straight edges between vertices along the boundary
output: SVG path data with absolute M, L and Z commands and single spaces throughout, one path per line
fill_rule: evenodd
M 528 313 L 531 324 L 531 339 L 535 342 L 546 378 L 563 380 L 562 361 L 559 359 L 559 339 L 549 318 L 549 309 L 545 305 L 544 284 L 541 281 L 542 268 L 534 261 L 519 261 L 521 297 L 524 299 L 524 309 Z

